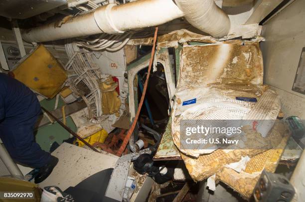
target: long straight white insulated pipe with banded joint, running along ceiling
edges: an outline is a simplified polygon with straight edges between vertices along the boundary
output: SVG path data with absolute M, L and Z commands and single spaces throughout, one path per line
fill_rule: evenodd
M 172 0 L 138 0 L 121 5 L 109 3 L 87 14 L 25 30 L 22 38 L 27 42 L 46 42 L 101 33 L 120 34 L 182 16 L 183 12 Z

